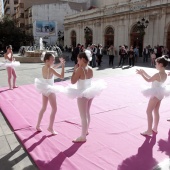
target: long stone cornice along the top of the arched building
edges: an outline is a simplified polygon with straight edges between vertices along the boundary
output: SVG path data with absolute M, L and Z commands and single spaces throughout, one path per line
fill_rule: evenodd
M 97 9 L 95 11 L 93 11 L 93 13 L 81 13 L 77 14 L 77 15 L 73 15 L 72 17 L 70 16 L 69 18 L 65 19 L 65 23 L 71 23 L 71 22 L 80 22 L 80 21 L 91 21 L 91 20 L 95 20 L 95 19 L 102 19 L 102 18 L 110 18 L 110 17 L 119 17 L 119 16 L 124 16 L 127 14 L 130 15 L 135 15 L 135 13 L 144 13 L 147 11 L 147 13 L 149 12 L 147 15 L 156 15 L 158 17 L 158 14 L 156 14 L 156 12 L 160 12 L 159 10 L 161 10 L 162 12 L 159 14 L 159 17 L 161 15 L 166 15 L 170 13 L 170 3 L 166 3 L 166 4 L 160 4 L 160 5 L 154 5 L 154 6 L 147 6 L 148 5 L 148 0 L 143 0 L 143 1 L 135 1 L 135 2 L 129 2 L 128 5 L 126 5 L 126 8 L 124 6 L 124 8 L 119 8 L 120 6 L 118 5 L 117 7 L 115 6 L 110 6 L 110 7 L 105 7 L 105 8 L 100 8 Z M 150 1 L 149 1 L 150 2 Z M 143 5 L 143 6 L 142 6 Z M 122 7 L 122 6 L 121 6 Z M 133 7 L 133 10 L 132 10 Z M 122 10 L 124 9 L 124 10 Z M 155 10 L 155 13 L 153 12 Z M 154 14 L 152 14 L 154 13 Z M 151 18 L 155 18 L 155 17 L 151 17 Z

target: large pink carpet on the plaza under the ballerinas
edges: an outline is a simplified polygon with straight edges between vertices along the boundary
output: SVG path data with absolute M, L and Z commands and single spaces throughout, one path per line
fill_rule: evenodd
M 40 170 L 149 170 L 170 156 L 169 99 L 161 104 L 159 133 L 145 138 L 140 135 L 147 126 L 148 99 L 140 93 L 144 80 L 133 75 L 105 81 L 108 88 L 93 101 L 89 135 L 83 144 L 72 143 L 81 132 L 76 100 L 57 94 L 59 134 L 52 136 L 46 130 L 50 106 L 42 120 L 43 132 L 35 130 L 41 95 L 34 85 L 0 89 L 0 108 Z

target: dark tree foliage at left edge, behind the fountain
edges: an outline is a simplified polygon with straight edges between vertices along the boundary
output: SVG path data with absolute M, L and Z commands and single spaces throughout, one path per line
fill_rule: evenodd
M 21 28 L 16 26 L 13 19 L 4 16 L 0 20 L 0 50 L 5 50 L 6 46 L 11 44 L 17 51 L 21 45 L 26 45 L 28 42 L 33 42 L 33 36 L 26 35 Z

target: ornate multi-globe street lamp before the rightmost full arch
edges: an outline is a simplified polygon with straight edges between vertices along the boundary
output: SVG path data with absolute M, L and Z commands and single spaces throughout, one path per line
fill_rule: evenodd
M 139 43 L 140 43 L 139 53 L 140 54 L 142 54 L 143 38 L 144 38 L 144 35 L 145 35 L 145 29 L 148 27 L 148 25 L 149 25 L 149 21 L 146 20 L 145 18 L 142 18 L 140 21 L 137 22 L 137 28 L 138 28 L 138 31 L 139 31 L 139 34 L 140 34 L 140 37 L 139 37 Z

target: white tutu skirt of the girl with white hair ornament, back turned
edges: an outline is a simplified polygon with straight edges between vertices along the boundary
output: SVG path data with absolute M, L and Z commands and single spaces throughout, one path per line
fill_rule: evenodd
M 72 99 L 74 98 L 88 98 L 92 99 L 102 92 L 107 87 L 104 80 L 97 80 L 92 82 L 92 79 L 79 79 L 76 85 L 69 85 L 65 88 L 64 93 Z

